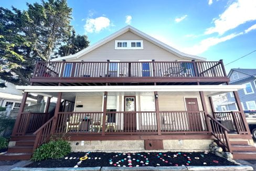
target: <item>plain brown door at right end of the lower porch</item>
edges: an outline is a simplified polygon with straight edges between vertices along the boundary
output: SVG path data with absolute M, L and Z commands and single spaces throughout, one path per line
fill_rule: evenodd
M 185 98 L 187 111 L 199 111 L 197 98 Z M 188 112 L 190 131 L 203 131 L 200 112 Z

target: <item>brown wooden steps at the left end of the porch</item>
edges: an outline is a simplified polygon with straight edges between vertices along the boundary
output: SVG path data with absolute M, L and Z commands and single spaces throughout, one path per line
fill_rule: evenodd
M 35 135 L 12 136 L 11 141 L 16 141 L 14 147 L 9 147 L 7 153 L 0 155 L 0 161 L 28 160 L 33 154 Z

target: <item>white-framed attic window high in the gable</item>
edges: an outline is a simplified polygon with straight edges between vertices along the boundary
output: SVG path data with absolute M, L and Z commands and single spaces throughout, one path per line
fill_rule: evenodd
M 143 40 L 115 40 L 115 49 L 143 49 Z

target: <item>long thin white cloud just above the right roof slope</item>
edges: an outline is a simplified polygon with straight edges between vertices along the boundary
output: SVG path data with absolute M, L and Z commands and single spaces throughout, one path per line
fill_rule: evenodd
M 215 45 L 219 44 L 220 42 L 230 40 L 230 39 L 237 37 L 239 35 L 242 35 L 242 34 L 243 34 L 243 32 L 238 33 L 238 34 L 230 34 L 230 35 L 224 36 L 224 37 L 209 37 L 209 38 L 201 40 L 198 45 L 195 45 L 190 48 L 185 48 L 183 50 L 188 54 L 198 55 L 198 54 L 201 54 L 202 52 L 208 50 L 211 46 L 215 46 Z

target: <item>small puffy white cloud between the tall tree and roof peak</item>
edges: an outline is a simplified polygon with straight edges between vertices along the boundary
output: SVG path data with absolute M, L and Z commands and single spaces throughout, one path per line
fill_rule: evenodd
M 84 29 L 88 33 L 99 33 L 102 29 L 108 28 L 110 26 L 110 19 L 106 17 L 98 17 L 98 18 L 87 18 L 86 25 L 84 25 Z

